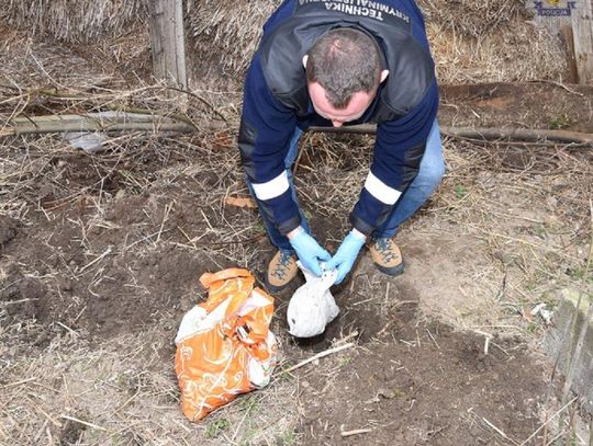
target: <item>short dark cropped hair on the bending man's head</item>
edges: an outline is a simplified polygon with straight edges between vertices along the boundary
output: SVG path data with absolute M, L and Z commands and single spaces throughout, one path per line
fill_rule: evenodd
M 306 80 L 317 82 L 336 108 L 348 106 L 354 93 L 379 85 L 381 56 L 377 42 L 351 27 L 325 32 L 307 53 Z

